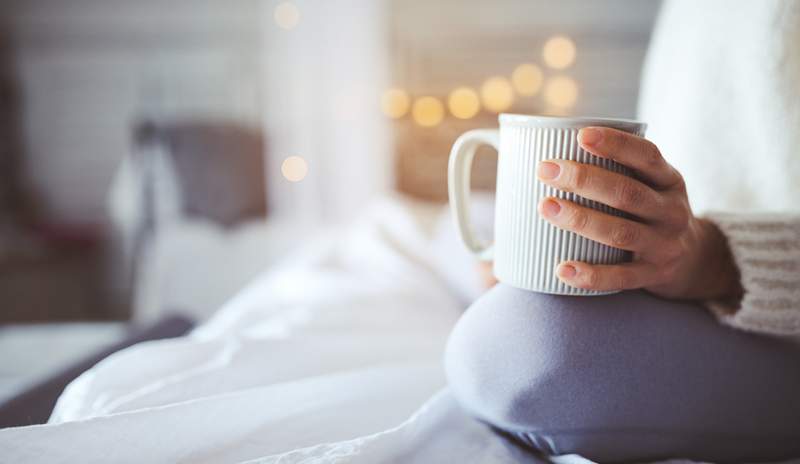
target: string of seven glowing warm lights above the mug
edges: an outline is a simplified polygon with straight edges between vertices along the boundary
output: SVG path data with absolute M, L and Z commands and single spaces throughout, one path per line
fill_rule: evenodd
M 556 35 L 542 47 L 542 59 L 550 69 L 563 70 L 575 63 L 577 47 L 571 38 Z M 542 94 L 550 110 L 566 114 L 578 101 L 578 83 L 570 76 L 546 77 L 541 67 L 522 63 L 514 68 L 509 80 L 503 76 L 486 79 L 479 91 L 467 86 L 453 89 L 447 97 L 447 109 L 458 119 L 471 119 L 481 109 L 502 113 L 514 105 L 516 95 L 534 97 Z M 411 118 L 422 127 L 438 126 L 445 116 L 445 107 L 436 97 L 425 96 L 411 102 L 401 88 L 387 89 L 381 97 L 381 110 L 390 118 L 399 119 L 411 111 Z

